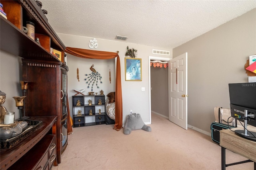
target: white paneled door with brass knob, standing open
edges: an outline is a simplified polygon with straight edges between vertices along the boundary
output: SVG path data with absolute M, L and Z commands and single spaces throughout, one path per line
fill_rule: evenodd
M 170 60 L 169 120 L 188 129 L 188 53 Z

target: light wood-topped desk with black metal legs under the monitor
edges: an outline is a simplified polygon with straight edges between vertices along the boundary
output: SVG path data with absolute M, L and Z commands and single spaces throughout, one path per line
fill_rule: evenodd
M 239 127 L 233 128 L 235 131 L 237 129 L 241 129 Z M 248 129 L 248 128 L 247 128 Z M 252 129 L 248 129 L 251 131 L 256 131 L 256 128 L 252 127 Z M 220 146 L 221 146 L 221 169 L 225 170 L 226 166 L 246 163 L 246 162 L 254 162 L 254 170 L 256 170 L 256 142 L 250 141 L 248 139 L 244 139 L 230 129 L 225 129 L 220 131 Z M 226 164 L 226 153 L 225 149 L 231 150 L 237 154 L 240 154 L 249 160 L 245 160 L 242 162 L 235 162 L 233 164 Z

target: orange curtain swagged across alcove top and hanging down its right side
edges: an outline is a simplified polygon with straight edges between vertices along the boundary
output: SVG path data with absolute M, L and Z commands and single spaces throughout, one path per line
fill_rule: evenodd
M 66 53 L 74 55 L 76 57 L 82 57 L 85 59 L 113 59 L 117 57 L 116 61 L 116 120 L 114 129 L 119 131 L 123 125 L 123 104 L 122 104 L 122 86 L 121 86 L 121 66 L 118 53 L 107 51 L 95 51 L 78 49 L 72 47 L 66 47 Z

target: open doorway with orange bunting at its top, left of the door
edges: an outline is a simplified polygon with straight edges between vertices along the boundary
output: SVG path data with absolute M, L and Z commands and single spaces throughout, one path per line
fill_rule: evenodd
M 150 66 L 150 61 L 165 61 L 168 62 L 170 59 L 164 58 L 164 57 L 152 57 L 149 56 L 149 111 L 150 111 L 150 124 L 152 123 L 151 119 L 151 112 L 156 113 L 162 117 L 165 117 L 168 119 L 169 111 L 168 111 L 168 93 L 169 93 L 169 66 L 164 68 L 152 68 Z M 156 72 L 153 69 L 156 69 Z M 162 70 L 160 70 L 162 69 Z M 156 77 L 156 75 L 158 75 Z M 156 106 L 157 105 L 157 106 Z M 152 111 L 152 109 L 156 109 L 156 107 L 159 107 L 157 110 Z

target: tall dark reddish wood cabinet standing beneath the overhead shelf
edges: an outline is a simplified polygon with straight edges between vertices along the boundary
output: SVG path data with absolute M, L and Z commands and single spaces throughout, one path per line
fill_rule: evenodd
M 56 151 L 58 163 L 67 146 L 67 119 L 65 105 L 68 67 L 61 62 L 22 59 L 22 79 L 29 82 L 26 99 L 27 116 L 57 115 Z M 65 80 L 62 82 L 62 78 Z M 65 85 L 64 85 L 65 84 Z M 64 87 L 65 89 L 63 89 Z M 63 131 L 62 131 L 63 130 Z M 62 141 L 65 140 L 65 143 Z

